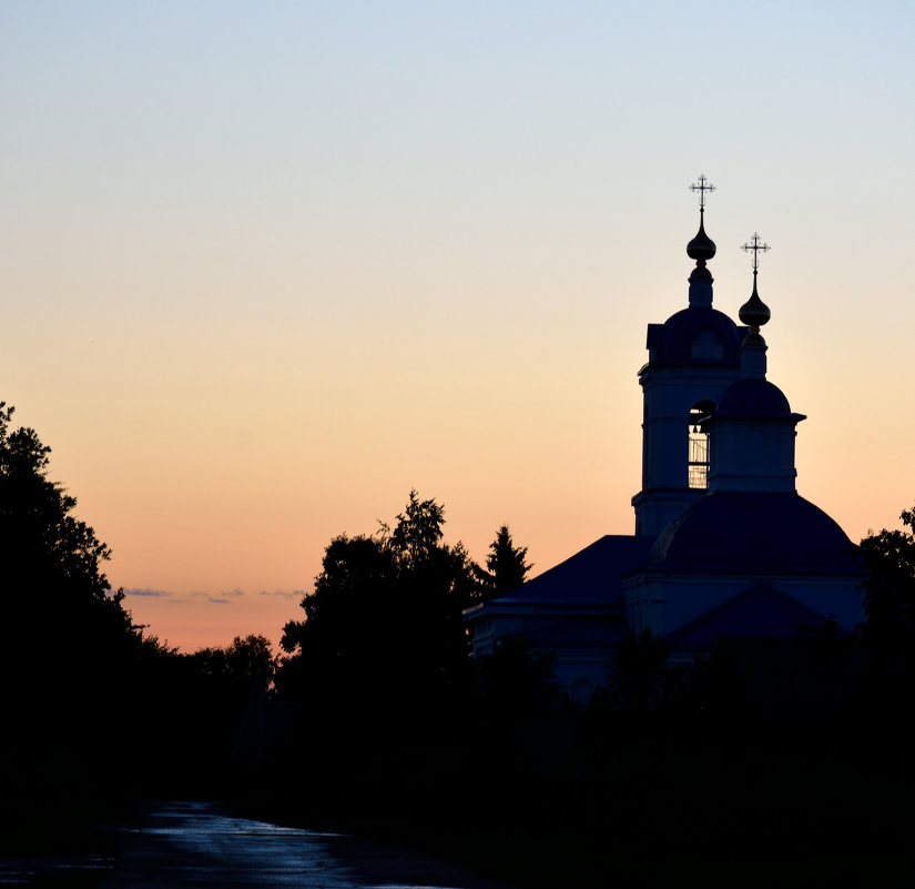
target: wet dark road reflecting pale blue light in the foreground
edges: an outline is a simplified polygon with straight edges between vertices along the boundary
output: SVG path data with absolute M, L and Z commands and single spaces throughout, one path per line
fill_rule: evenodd
M 102 889 L 506 889 L 364 838 L 235 817 L 213 802 L 157 802 Z

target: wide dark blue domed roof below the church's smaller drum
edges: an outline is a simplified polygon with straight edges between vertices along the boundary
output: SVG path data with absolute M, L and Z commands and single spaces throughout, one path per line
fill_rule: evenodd
M 660 534 L 649 570 L 714 574 L 845 574 L 857 547 L 799 494 L 718 491 L 689 506 Z

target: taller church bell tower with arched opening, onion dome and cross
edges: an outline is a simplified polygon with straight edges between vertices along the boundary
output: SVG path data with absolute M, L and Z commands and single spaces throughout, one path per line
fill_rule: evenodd
M 740 376 L 739 329 L 712 307 L 708 263 L 715 244 L 705 234 L 704 175 L 690 185 L 699 195 L 699 231 L 687 244 L 695 261 L 689 304 L 663 324 L 648 325 L 648 363 L 639 371 L 643 392 L 642 489 L 632 498 L 636 534 L 654 536 L 705 494 L 709 484 L 706 420 L 719 395 Z

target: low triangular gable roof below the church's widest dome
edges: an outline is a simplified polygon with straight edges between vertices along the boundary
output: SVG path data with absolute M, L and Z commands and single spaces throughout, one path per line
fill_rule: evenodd
M 823 626 L 823 615 L 769 584 L 754 584 L 664 638 L 680 648 L 709 648 L 722 636 L 794 637 Z M 840 636 L 848 634 L 838 627 Z

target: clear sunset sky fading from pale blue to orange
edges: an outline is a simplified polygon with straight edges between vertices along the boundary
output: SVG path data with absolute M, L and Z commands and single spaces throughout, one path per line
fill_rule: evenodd
M 634 529 L 645 325 L 752 287 L 852 537 L 915 502 L 915 6 L 0 0 L 0 400 L 134 618 L 276 640 L 444 504 L 533 574 Z

